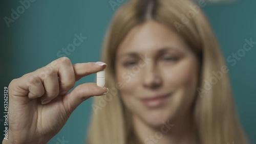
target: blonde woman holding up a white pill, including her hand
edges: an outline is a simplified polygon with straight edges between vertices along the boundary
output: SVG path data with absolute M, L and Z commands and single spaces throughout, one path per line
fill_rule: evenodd
M 130 1 L 114 16 L 102 54 L 109 89 L 86 83 L 67 93 L 106 67 L 72 65 L 68 58 L 13 80 L 10 140 L 3 143 L 46 143 L 82 101 L 109 91 L 95 97 L 90 144 L 248 143 L 218 42 L 199 6 Z M 222 77 L 205 88 L 213 73 Z

